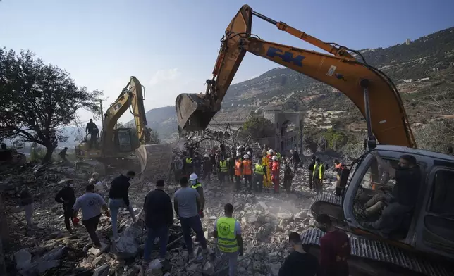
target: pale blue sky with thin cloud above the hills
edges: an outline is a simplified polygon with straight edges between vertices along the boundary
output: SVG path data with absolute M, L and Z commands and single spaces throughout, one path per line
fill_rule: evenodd
M 130 76 L 145 86 L 145 110 L 204 92 L 231 18 L 254 11 L 350 49 L 393 46 L 454 26 L 453 0 L 0 0 L 0 46 L 30 49 L 66 69 L 78 86 L 104 91 L 104 108 Z M 254 18 L 252 33 L 316 48 Z M 247 54 L 233 83 L 278 65 Z M 92 114 L 81 111 L 86 123 Z M 132 115 L 126 112 L 121 121 Z

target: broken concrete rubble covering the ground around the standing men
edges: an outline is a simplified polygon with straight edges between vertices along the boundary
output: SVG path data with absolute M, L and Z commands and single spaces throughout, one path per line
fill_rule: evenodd
M 160 175 L 160 174 L 159 174 Z M 108 175 L 107 182 L 117 175 Z M 10 243 L 4 246 L 8 256 L 8 269 L 16 275 L 227 275 L 228 262 L 216 251 L 212 237 L 216 218 L 223 215 L 225 203 L 234 206 L 233 217 L 242 225 L 245 255 L 238 258 L 238 275 L 278 275 L 283 259 L 288 256 L 288 232 L 303 232 L 313 220 L 309 206 L 314 192 L 307 187 L 307 170 L 300 169 L 295 175 L 292 193 L 280 194 L 263 192 L 256 194 L 235 190 L 235 184 L 219 184 L 215 175 L 211 182 L 203 182 L 205 237 L 214 251 L 210 256 L 202 256 L 200 246 L 195 246 L 197 258 L 188 260 L 183 232 L 179 221 L 171 227 L 168 242 L 168 261 L 152 262 L 147 270 L 142 269 L 142 256 L 147 232 L 143 221 L 132 223 L 128 211 L 118 214 L 118 232 L 121 238 L 112 241 L 111 220 L 102 216 L 98 235 L 101 250 L 90 248 L 91 242 L 85 227 L 76 228 L 71 235 L 63 223 L 63 208 L 54 201 L 54 196 L 65 177 L 75 180 L 76 196 L 84 193 L 87 175 L 75 175 L 73 168 L 47 166 L 46 168 L 28 167 L 19 174 L 3 175 L 2 186 L 8 221 L 10 222 Z M 333 172 L 326 172 L 325 190 L 332 191 L 335 185 Z M 18 207 L 17 194 L 27 184 L 35 197 L 35 227 L 25 227 L 25 214 Z M 170 182 L 166 192 L 173 197 L 179 184 Z M 130 201 L 140 217 L 145 195 L 154 189 L 154 182 L 132 180 Z M 157 244 L 158 241 L 155 241 Z M 197 244 L 196 244 L 197 245 Z M 157 258 L 157 248 L 152 258 Z M 215 258 L 216 257 L 216 258 Z M 167 273 L 167 274 L 166 274 Z

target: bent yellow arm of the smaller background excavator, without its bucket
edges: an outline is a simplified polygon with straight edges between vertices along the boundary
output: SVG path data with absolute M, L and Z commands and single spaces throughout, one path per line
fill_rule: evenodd
M 130 82 L 123 88 L 116 101 L 107 108 L 104 114 L 102 124 L 102 150 L 104 154 L 114 153 L 115 125 L 121 115 L 128 109 L 134 115 L 137 137 L 139 138 L 140 144 L 147 144 L 150 130 L 147 128 L 147 118 L 145 118 L 144 99 L 142 84 L 140 84 L 136 77 L 131 77 Z

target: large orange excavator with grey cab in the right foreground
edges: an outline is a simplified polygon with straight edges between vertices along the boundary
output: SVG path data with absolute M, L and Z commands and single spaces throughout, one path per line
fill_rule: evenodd
M 253 16 L 328 54 L 267 42 L 252 35 Z M 453 275 L 450 263 L 454 261 L 454 209 L 450 202 L 454 200 L 451 188 L 454 183 L 450 182 L 454 181 L 454 157 L 416 149 L 398 89 L 389 77 L 368 65 L 360 52 L 323 42 L 245 5 L 231 20 L 221 39 L 221 50 L 213 77 L 207 80 L 206 92 L 177 96 L 180 133 L 204 130 L 209 125 L 221 109 L 247 51 L 338 89 L 355 103 L 367 121 L 368 150 L 355 162 L 352 175 L 350 170 L 343 173 L 340 180 L 344 183 L 343 194 L 322 193 L 312 201 L 313 206 L 317 206 L 312 208 L 315 215 L 328 213 L 350 232 L 351 275 Z M 398 233 L 391 236 L 371 228 L 354 208 L 379 192 L 376 187 L 389 189 L 395 185 L 389 177 L 381 177 L 383 168 L 375 161 L 373 151 L 378 151 L 393 165 L 403 154 L 411 154 L 424 175 L 416 207 L 396 222 Z M 302 234 L 302 241 L 311 251 L 317 251 L 323 234 L 311 228 Z

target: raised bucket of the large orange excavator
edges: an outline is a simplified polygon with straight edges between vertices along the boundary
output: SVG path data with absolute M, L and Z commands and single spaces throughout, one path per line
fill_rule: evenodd
M 210 108 L 209 101 L 202 99 L 199 94 L 179 94 L 175 109 L 178 132 L 204 130 L 219 111 Z

